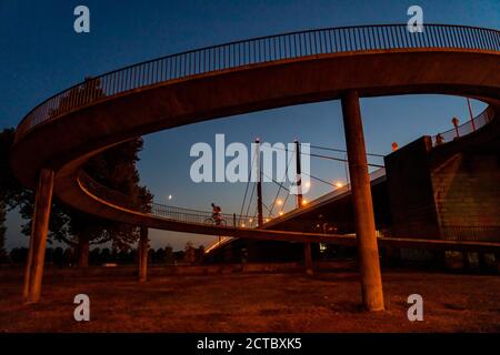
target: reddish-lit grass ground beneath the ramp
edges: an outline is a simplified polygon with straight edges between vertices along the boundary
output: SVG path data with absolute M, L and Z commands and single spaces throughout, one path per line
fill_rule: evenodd
M 356 272 L 158 275 L 138 283 L 107 270 L 47 271 L 42 301 L 23 305 L 22 272 L 1 273 L 0 332 L 500 332 L 500 276 L 389 270 L 387 311 L 360 307 Z M 74 295 L 90 297 L 90 322 L 73 320 Z M 407 297 L 423 297 L 409 322 Z

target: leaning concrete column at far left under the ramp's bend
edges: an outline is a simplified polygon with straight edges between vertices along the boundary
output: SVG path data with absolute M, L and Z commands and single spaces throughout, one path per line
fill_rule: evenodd
M 24 271 L 23 298 L 26 303 L 40 301 L 46 257 L 47 233 L 49 231 L 54 172 L 42 169 L 38 179 L 37 194 L 31 223 L 30 248 Z

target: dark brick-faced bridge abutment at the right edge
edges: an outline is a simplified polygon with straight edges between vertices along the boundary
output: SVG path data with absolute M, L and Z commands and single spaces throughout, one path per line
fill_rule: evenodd
M 392 234 L 500 241 L 496 146 L 461 149 L 431 164 L 432 142 L 422 136 L 386 156 Z

